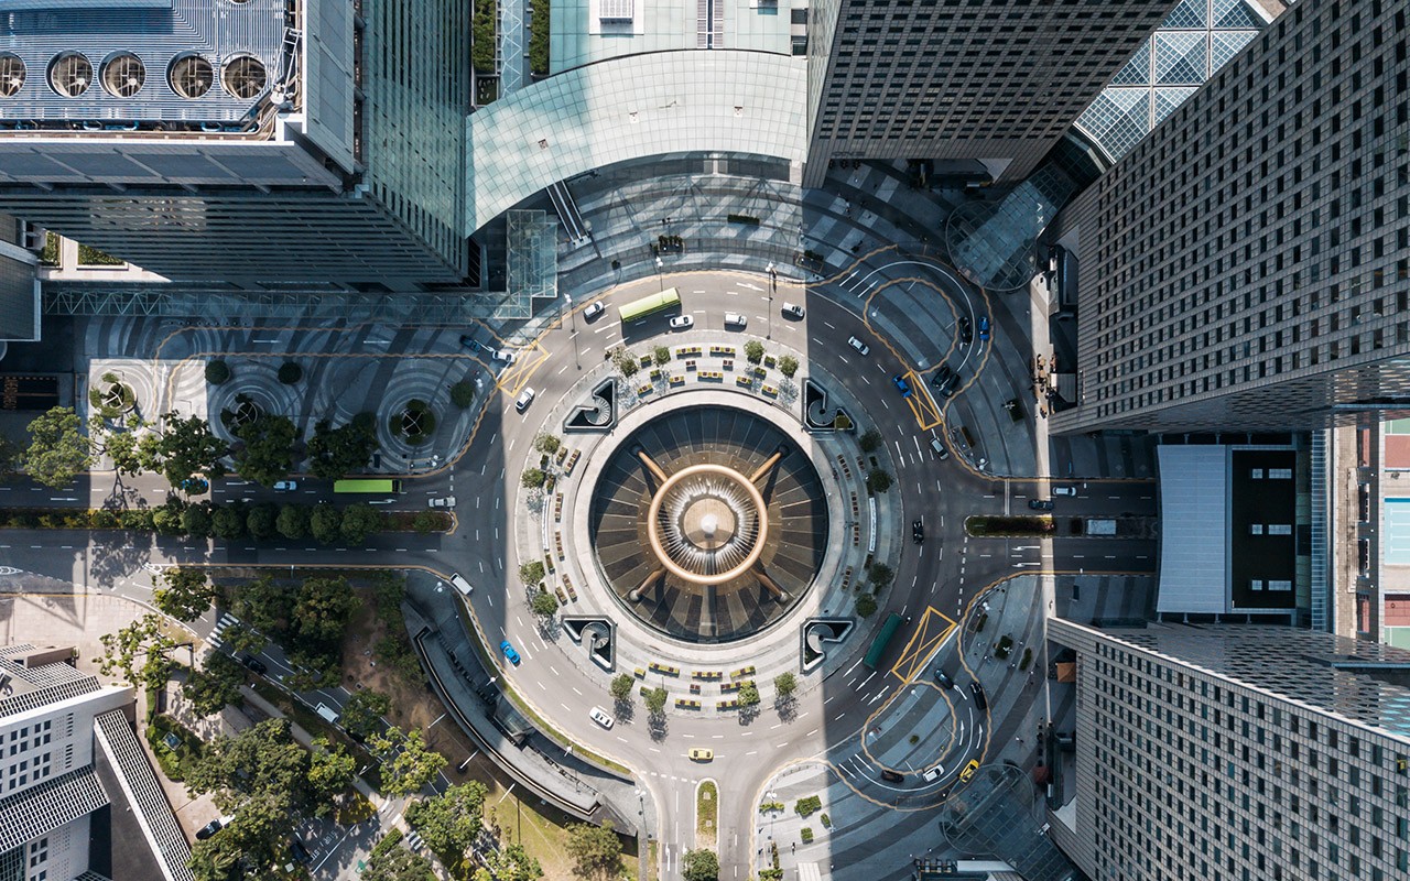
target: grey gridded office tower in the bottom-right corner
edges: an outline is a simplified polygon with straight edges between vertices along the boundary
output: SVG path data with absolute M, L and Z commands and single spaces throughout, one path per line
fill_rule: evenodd
M 1410 653 L 1249 624 L 1048 637 L 1077 689 L 1050 832 L 1094 881 L 1410 877 Z

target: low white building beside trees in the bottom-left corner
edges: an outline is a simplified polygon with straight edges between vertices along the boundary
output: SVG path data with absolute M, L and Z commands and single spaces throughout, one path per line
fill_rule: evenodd
M 186 839 L 133 734 L 133 689 L 72 657 L 0 648 L 0 881 L 189 881 Z

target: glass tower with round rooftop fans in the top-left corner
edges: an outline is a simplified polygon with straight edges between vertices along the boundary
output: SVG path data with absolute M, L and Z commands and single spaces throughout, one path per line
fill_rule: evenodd
M 457 282 L 468 10 L 20 4 L 0 30 L 0 210 L 176 282 Z

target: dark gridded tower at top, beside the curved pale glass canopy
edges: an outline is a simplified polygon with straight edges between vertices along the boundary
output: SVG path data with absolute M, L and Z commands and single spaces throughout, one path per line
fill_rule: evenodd
M 1172 0 L 823 0 L 808 23 L 808 182 L 832 159 L 974 159 L 1007 182 L 1048 154 Z

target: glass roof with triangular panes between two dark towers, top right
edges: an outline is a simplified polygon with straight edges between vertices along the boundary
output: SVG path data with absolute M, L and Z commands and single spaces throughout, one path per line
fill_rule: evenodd
M 1252 0 L 1183 0 L 1077 117 L 1077 128 L 1120 159 L 1268 21 Z

